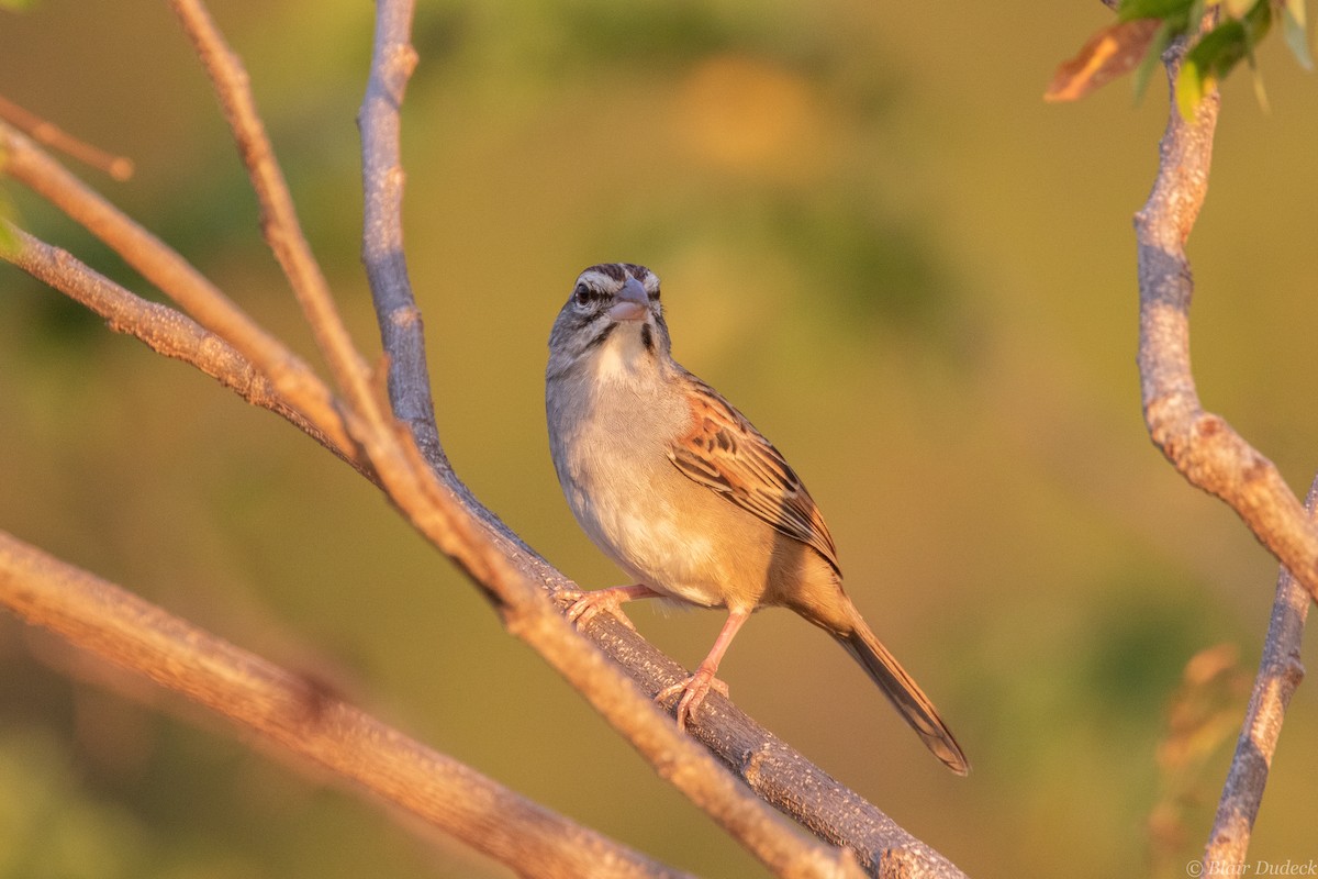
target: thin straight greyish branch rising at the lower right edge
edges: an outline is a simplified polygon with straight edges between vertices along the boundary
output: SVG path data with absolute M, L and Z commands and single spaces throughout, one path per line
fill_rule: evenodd
M 1309 488 L 1305 509 L 1310 519 L 1315 518 L 1318 477 L 1314 477 Z M 1249 695 L 1249 708 L 1240 726 L 1235 756 L 1231 758 L 1231 770 L 1222 787 L 1213 833 L 1209 834 L 1203 853 L 1206 876 L 1243 876 L 1247 872 L 1246 853 L 1263 803 L 1263 791 L 1268 784 L 1272 755 L 1281 738 L 1281 723 L 1290 697 L 1305 676 L 1300 646 L 1310 604 L 1309 593 L 1282 565 L 1277 575 L 1277 596 L 1272 602 L 1272 618 L 1268 621 L 1268 637 L 1263 642 L 1263 658 Z

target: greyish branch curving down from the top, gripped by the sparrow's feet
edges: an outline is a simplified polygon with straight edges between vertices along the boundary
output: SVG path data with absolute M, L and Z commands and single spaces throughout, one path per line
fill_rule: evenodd
M 471 494 L 452 472 L 435 427 L 420 310 L 407 279 L 402 246 L 405 178 L 399 162 L 399 108 L 407 79 L 416 63 L 415 50 L 410 45 L 413 7 L 411 0 L 380 0 L 376 4 L 372 72 L 357 116 L 362 137 L 366 206 L 362 258 L 370 278 L 385 352 L 390 358 L 390 399 L 395 414 L 409 426 L 422 455 L 439 478 L 436 489 L 443 492 L 444 502 L 461 509 L 471 522 L 469 538 L 486 544 L 521 577 L 535 577 L 551 592 L 564 586 L 573 588 L 575 584 L 527 547 Z M 526 614 L 529 610 L 511 605 L 503 608 L 509 629 L 519 637 L 526 630 L 526 623 L 514 622 L 511 615 Z M 623 666 L 651 698 L 687 676 L 679 664 L 617 621 L 600 618 L 587 630 L 587 635 Z M 544 646 L 538 644 L 536 648 L 544 650 Z M 573 680 L 573 684 L 577 681 Z M 605 687 L 612 689 L 613 684 Z M 627 735 L 660 774 L 667 774 L 664 762 L 676 759 L 675 755 L 655 752 L 643 742 L 655 737 L 667 738 L 671 722 L 652 710 L 622 718 L 610 716 L 597 700 L 613 701 L 622 697 L 622 693 L 609 693 L 608 689 L 581 692 Z M 695 725 L 700 739 L 760 797 L 801 821 L 820 838 L 858 851 L 862 863 L 875 875 L 896 875 L 900 871 L 909 871 L 908 875 L 960 875 L 946 859 L 788 749 L 730 702 L 718 697 L 712 698 L 710 705 L 713 710 L 706 712 Z M 621 726 L 619 720 L 625 720 L 627 726 Z M 691 762 L 684 775 L 697 770 L 708 771 L 709 767 Z M 735 817 L 737 809 L 750 805 L 745 797 L 737 804 L 712 799 L 708 788 L 701 791 L 683 784 L 677 787 L 734 834 L 741 836 L 742 830 L 738 828 L 747 826 Z M 812 796 L 801 796 L 803 791 L 812 792 Z M 763 859 L 762 842 L 741 838 Z

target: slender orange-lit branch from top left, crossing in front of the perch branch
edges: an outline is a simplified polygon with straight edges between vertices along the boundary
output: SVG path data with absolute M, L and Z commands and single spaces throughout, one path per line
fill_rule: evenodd
M 256 112 L 241 62 L 224 42 L 199 0 L 173 0 L 192 38 L 225 111 L 253 188 L 262 206 L 266 240 L 303 307 L 353 414 L 353 438 L 381 477 L 390 499 L 436 547 L 453 557 L 503 613 L 510 631 L 534 646 L 555 669 L 587 695 L 590 704 L 655 763 L 660 775 L 704 805 L 738 839 L 780 875 L 821 875 L 845 866 L 836 853 L 789 832 L 780 818 L 746 796 L 710 758 L 659 720 L 613 667 L 559 617 L 540 590 L 489 540 L 484 540 L 465 507 L 445 505 L 435 474 L 416 452 L 410 431 L 395 430 L 374 395 L 369 372 L 352 345 L 328 285 L 298 227 L 283 175 L 274 161 L 265 128 Z M 405 17 L 406 20 L 406 17 Z M 406 69 L 403 76 L 406 76 Z M 356 427 L 353 427 L 356 424 Z M 639 705 L 637 702 L 641 702 Z M 664 766 L 672 763 L 681 771 Z M 718 808 L 713 808 L 718 807 Z

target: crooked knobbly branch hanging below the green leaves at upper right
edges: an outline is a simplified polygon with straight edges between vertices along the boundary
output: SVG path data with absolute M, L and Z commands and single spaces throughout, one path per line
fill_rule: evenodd
M 1169 82 L 1185 53 L 1168 50 Z M 1205 412 L 1190 370 L 1194 281 L 1185 241 L 1209 187 L 1220 96 L 1206 95 L 1193 121 L 1170 101 L 1159 173 L 1135 216 L 1140 282 L 1140 385 L 1149 435 L 1193 485 L 1226 501 L 1255 536 L 1318 597 L 1318 525 L 1277 468 L 1220 415 Z

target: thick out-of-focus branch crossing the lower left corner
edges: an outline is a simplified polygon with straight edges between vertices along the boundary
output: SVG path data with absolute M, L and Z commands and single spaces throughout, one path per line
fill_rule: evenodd
M 680 876 L 285 671 L 0 531 L 0 604 L 349 779 L 521 875 Z

